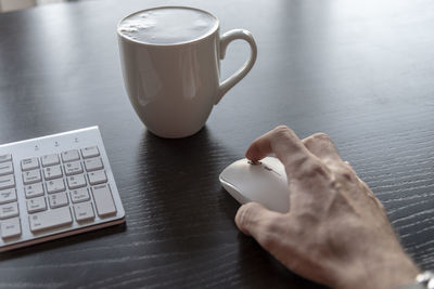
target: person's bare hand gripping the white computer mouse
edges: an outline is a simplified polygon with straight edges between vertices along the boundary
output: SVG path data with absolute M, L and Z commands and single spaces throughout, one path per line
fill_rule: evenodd
M 386 289 L 414 280 L 418 268 L 384 207 L 328 135 L 301 141 L 278 127 L 254 141 L 245 155 L 256 161 L 272 153 L 285 167 L 290 212 L 245 203 L 235 216 L 240 231 L 294 273 L 333 288 Z

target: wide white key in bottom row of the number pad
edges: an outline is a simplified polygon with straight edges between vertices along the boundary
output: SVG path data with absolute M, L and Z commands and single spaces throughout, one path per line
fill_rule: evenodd
M 69 207 L 62 207 L 49 211 L 34 213 L 28 216 L 31 232 L 39 232 L 52 227 L 71 225 L 73 218 Z

